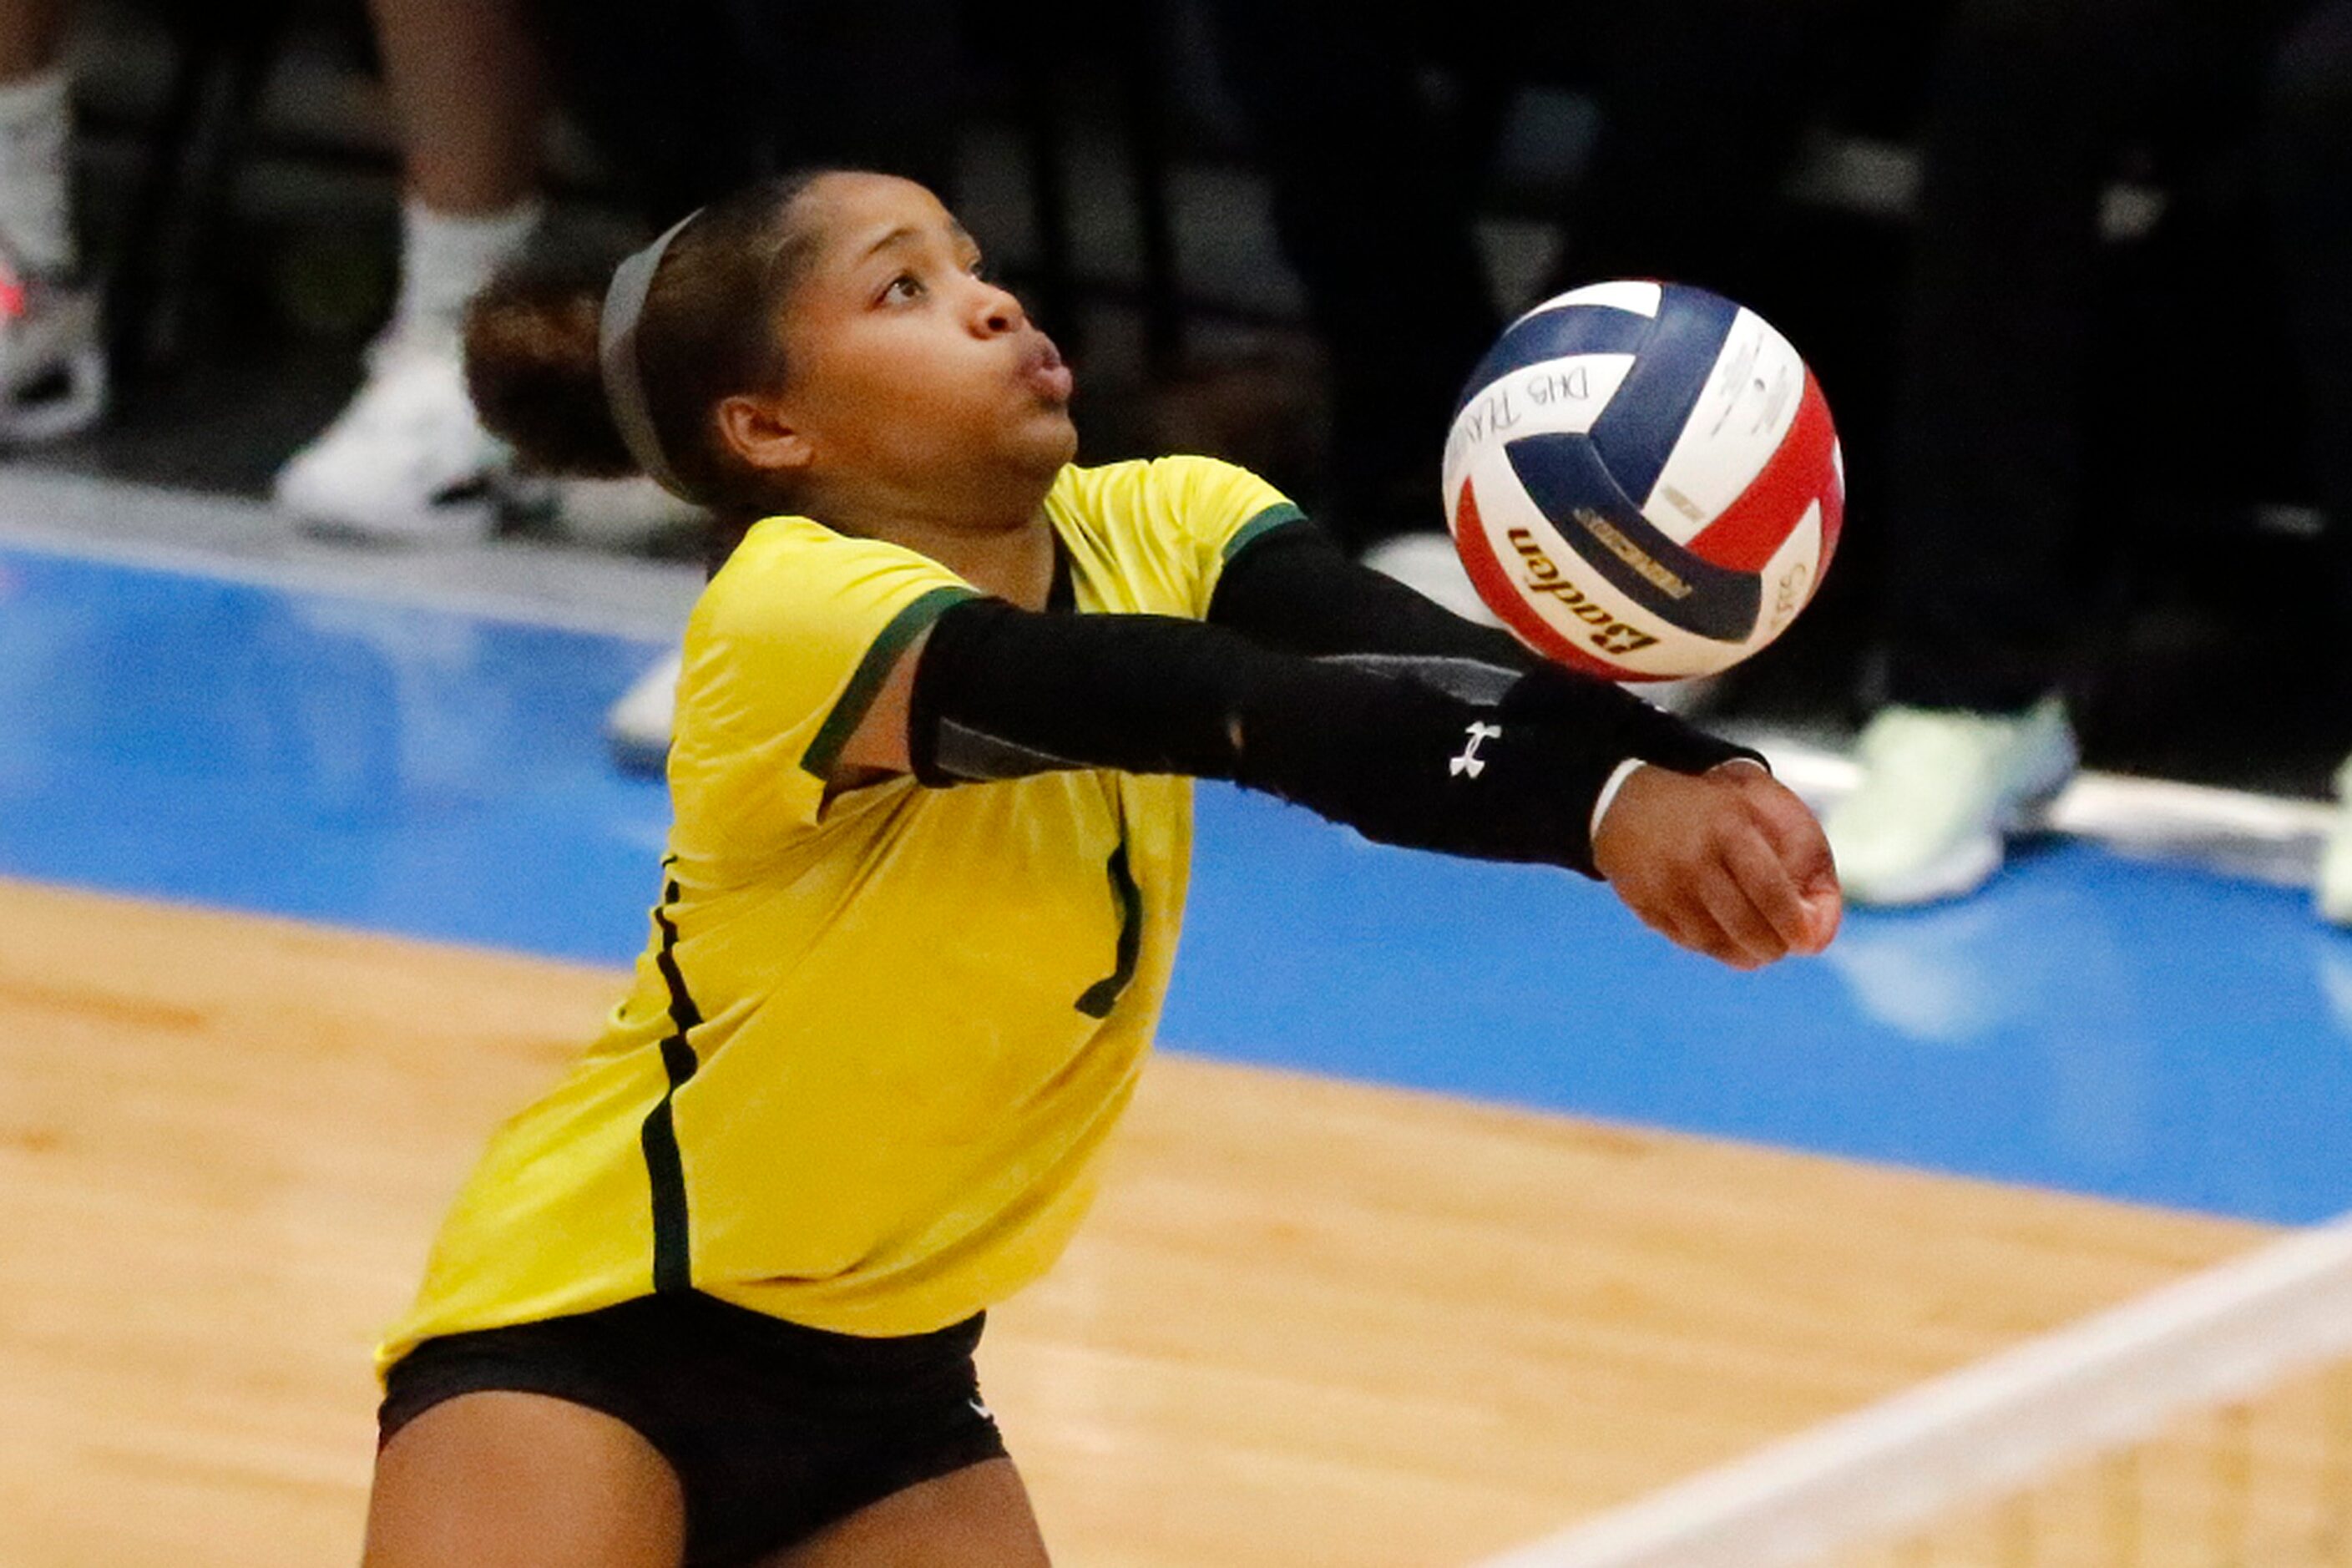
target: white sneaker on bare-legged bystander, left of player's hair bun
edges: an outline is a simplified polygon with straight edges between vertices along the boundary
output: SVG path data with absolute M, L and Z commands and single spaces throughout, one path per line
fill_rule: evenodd
M 506 449 L 466 397 L 456 336 L 388 331 L 367 381 L 278 470 L 278 505 L 320 534 L 372 543 L 480 543 L 499 531 Z

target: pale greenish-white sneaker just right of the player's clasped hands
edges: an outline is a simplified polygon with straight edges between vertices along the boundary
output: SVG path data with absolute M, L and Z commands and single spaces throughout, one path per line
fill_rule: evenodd
M 1846 898 L 1875 905 L 1980 889 L 2082 764 L 2058 698 L 2018 717 L 1886 708 L 1856 752 L 1863 778 L 1820 825 Z

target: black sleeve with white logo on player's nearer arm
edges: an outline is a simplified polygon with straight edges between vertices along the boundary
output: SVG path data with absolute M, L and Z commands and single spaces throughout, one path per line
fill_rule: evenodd
M 1230 778 L 1383 844 L 1590 877 L 1592 804 L 1635 748 L 1541 696 L 1468 701 L 1171 616 L 967 599 L 924 642 L 908 750 L 931 788 L 1075 766 Z

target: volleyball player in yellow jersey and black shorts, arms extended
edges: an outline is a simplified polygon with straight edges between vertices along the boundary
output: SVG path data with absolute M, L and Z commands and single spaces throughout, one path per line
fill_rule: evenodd
M 1736 748 L 1242 470 L 1075 468 L 1070 371 L 922 186 L 776 181 L 609 282 L 503 284 L 468 362 L 527 458 L 734 522 L 652 943 L 381 1352 L 369 1568 L 1044 1563 L 971 1349 L 1134 1088 L 1188 778 L 1606 877 L 1743 969 L 1835 931 Z

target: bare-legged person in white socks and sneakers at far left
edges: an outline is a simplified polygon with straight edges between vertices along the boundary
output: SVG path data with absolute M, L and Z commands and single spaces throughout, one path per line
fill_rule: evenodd
M 546 73 L 513 0 L 374 0 L 402 139 L 400 299 L 343 414 L 278 473 L 303 524 L 395 543 L 487 538 L 501 447 L 466 402 L 466 301 L 539 226 Z M 66 0 L 0 2 L 0 435 L 106 411 L 99 292 L 73 223 Z

